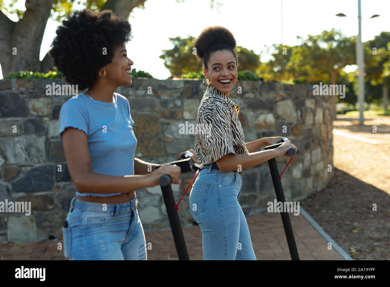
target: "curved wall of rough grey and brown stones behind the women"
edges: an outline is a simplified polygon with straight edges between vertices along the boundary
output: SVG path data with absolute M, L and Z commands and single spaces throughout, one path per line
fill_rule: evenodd
M 0 242 L 62 238 L 75 188 L 58 138 L 58 114 L 70 96 L 46 96 L 46 85 L 63 79 L 0 80 L 0 201 L 30 201 L 31 215 L 0 213 Z M 129 100 L 138 139 L 136 157 L 169 162 L 193 148 L 193 134 L 179 134 L 180 124 L 194 123 L 206 87 L 200 80 L 137 78 L 117 92 Z M 323 189 L 332 177 L 332 111 L 330 96 L 314 96 L 312 86 L 239 81 L 230 93 L 239 105 L 245 142 L 286 136 L 298 147 L 282 176 L 287 201 L 298 201 Z M 262 148 L 261 150 L 263 150 Z M 281 173 L 289 159 L 277 159 Z M 263 212 L 275 191 L 264 162 L 243 171 L 239 202 L 246 215 Z M 172 185 L 176 202 L 193 177 Z M 190 191 L 190 189 L 189 189 Z M 191 225 L 187 192 L 179 207 L 182 226 Z M 169 228 L 160 186 L 136 191 L 145 231 Z

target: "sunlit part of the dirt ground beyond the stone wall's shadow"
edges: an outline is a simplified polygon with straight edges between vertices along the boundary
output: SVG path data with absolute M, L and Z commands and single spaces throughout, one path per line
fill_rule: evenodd
M 390 195 L 390 117 L 370 116 L 363 127 L 357 119 L 338 119 L 333 125 L 335 167 Z

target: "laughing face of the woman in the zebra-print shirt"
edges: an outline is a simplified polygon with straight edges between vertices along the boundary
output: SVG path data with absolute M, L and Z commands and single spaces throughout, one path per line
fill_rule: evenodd
M 208 69 L 203 69 L 203 74 L 209 78 L 213 87 L 229 96 L 237 81 L 236 57 L 229 50 L 211 53 L 207 62 Z

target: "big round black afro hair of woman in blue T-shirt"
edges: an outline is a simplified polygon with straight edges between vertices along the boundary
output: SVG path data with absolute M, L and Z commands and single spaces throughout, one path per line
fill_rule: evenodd
M 49 51 L 54 66 L 67 83 L 77 84 L 80 90 L 92 87 L 97 70 L 112 61 L 115 48 L 132 39 L 130 23 L 111 10 L 74 11 L 56 34 Z

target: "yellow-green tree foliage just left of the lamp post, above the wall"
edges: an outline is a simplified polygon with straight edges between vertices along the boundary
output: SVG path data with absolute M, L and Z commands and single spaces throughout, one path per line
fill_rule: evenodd
M 355 39 L 334 29 L 308 35 L 298 46 L 274 44 L 273 59 L 256 71 L 265 80 L 335 84 L 342 69 L 355 63 Z

